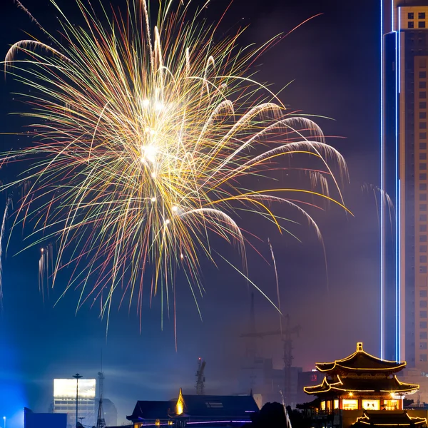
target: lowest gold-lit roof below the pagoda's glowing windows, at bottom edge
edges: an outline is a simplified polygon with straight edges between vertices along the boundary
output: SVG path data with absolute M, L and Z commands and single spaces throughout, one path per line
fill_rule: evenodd
M 410 417 L 406 411 L 402 410 L 371 410 L 357 417 L 357 420 L 352 424 L 352 427 L 363 427 L 372 425 L 375 427 L 421 427 L 427 423 L 424 417 Z

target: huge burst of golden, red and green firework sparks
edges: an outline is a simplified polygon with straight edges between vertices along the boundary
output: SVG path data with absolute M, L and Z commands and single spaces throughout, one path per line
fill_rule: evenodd
M 84 25 L 75 26 L 50 1 L 60 36 L 30 15 L 46 41 L 19 41 L 4 61 L 31 87 L 24 116 L 37 131 L 33 145 L 3 154 L 3 163 L 31 163 L 25 179 L 2 188 L 26 183 L 12 227 L 34 225 L 26 248 L 54 243 L 54 262 L 41 254 L 42 287 L 46 271 L 54 285 L 68 267 L 66 290 L 80 288 L 79 305 L 99 298 L 102 315 L 116 290 L 130 305 L 136 299 L 141 314 L 143 282 L 169 310 L 179 272 L 197 302 L 200 258 L 230 263 L 210 245 L 214 235 L 237 246 L 243 265 L 230 265 L 247 277 L 250 233 L 240 213 L 258 214 L 282 233 L 287 223 L 275 205 L 287 204 L 320 235 L 305 206 L 328 200 L 346 210 L 330 168 L 346 174 L 340 153 L 254 79 L 254 61 L 277 38 L 253 50 L 238 45 L 242 31 L 218 38 L 218 24 L 202 19 L 206 4 L 193 10 L 190 2 L 163 1 L 152 25 L 145 0 L 129 0 L 111 18 L 102 9 L 102 22 L 93 5 L 76 0 Z M 302 168 L 308 188 L 275 178 L 298 154 L 317 162 Z

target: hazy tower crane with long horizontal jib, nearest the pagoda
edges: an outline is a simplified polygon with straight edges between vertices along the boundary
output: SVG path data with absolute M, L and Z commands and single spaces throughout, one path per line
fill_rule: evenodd
M 290 316 L 285 315 L 285 326 L 280 330 L 273 330 L 270 332 L 250 332 L 240 335 L 240 337 L 258 337 L 263 339 L 266 336 L 281 336 L 284 353 L 282 359 L 284 360 L 284 400 L 285 404 L 290 404 L 291 392 L 291 366 L 292 366 L 292 335 L 300 335 L 300 325 L 290 327 Z

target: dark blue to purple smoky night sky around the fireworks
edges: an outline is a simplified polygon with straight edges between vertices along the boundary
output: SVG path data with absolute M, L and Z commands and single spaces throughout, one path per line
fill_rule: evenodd
M 60 6 L 69 3 L 58 0 Z M 208 10 L 214 20 L 228 1 L 212 3 Z M 56 15 L 49 0 L 26 0 L 24 5 L 54 31 Z M 280 96 L 287 106 L 334 119 L 317 119 L 317 123 L 326 136 L 335 136 L 327 142 L 345 156 L 350 169 L 351 182 L 343 190 L 355 217 L 334 206 L 314 212 L 325 240 L 328 282 L 322 246 L 306 223 L 293 230 L 301 243 L 257 225 L 260 252 L 269 260 L 267 238 L 275 251 L 282 309 L 302 327 L 294 342 L 294 365 L 304 370 L 315 361 L 349 355 L 357 341 L 379 354 L 379 225 L 374 194 L 364 190 L 365 185 L 379 185 L 379 2 L 235 0 L 222 27 L 233 32 L 249 24 L 240 43 L 261 44 L 319 13 L 267 51 L 257 66 L 258 80 L 272 83 L 273 91 L 292 82 Z M 24 31 L 42 37 L 12 0 L 2 0 L 0 56 L 11 44 L 27 38 Z M 19 89 L 11 78 L 1 78 L 0 132 L 20 132 L 25 124 L 24 119 L 9 116 L 21 109 L 11 95 Z M 6 151 L 23 143 L 23 137 L 0 136 L 0 142 L 1 151 Z M 13 168 L 2 171 L 1 179 L 11 180 L 13 173 Z M 105 396 L 116 404 L 118 422 L 132 412 L 137 399 L 170 399 L 179 387 L 193 393 L 198 357 L 207 361 L 208 394 L 238 392 L 239 359 L 245 351 L 239 335 L 249 328 L 250 289 L 227 265 L 219 263 L 216 268 L 203 263 L 202 321 L 188 285 L 177 284 L 175 351 L 173 322 L 168 317 L 161 330 L 159 299 L 151 308 L 146 299 L 141 332 L 135 308 L 113 311 L 107 338 L 99 305 L 92 309 L 85 305 L 76 314 L 78 292 L 68 292 L 54 306 L 62 290 L 58 284 L 44 301 L 38 286 L 39 250 L 15 255 L 22 243 L 19 233 L 13 236 L 4 259 L 0 317 L 0 417 L 6 415 L 9 428 L 19 426 L 12 419 L 24 406 L 48 410 L 54 377 L 76 372 L 96 377 L 101 351 Z M 239 263 L 232 248 L 223 244 L 219 250 Z M 249 258 L 250 278 L 275 298 L 272 267 L 253 253 Z M 259 331 L 277 328 L 277 312 L 257 292 L 255 315 Z M 282 367 L 279 338 L 266 338 L 260 350 Z

